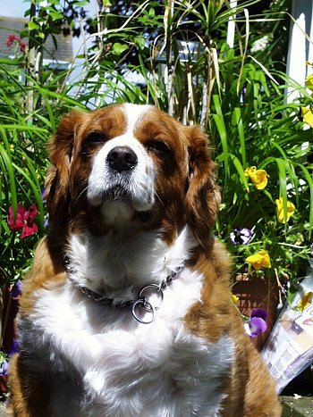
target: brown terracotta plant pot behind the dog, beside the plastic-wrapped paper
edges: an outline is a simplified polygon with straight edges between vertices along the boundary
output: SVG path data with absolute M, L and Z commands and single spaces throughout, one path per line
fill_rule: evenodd
M 252 341 L 260 351 L 266 338 L 274 327 L 279 303 L 279 289 L 275 277 L 262 279 L 255 275 L 239 274 L 233 279 L 232 292 L 239 298 L 237 307 L 241 314 L 250 316 L 254 308 L 262 308 L 267 312 L 267 329 Z

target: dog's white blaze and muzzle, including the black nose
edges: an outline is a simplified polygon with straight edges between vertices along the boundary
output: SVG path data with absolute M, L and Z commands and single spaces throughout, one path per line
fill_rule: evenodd
M 92 161 L 87 197 L 91 205 L 103 204 L 106 220 L 113 219 L 115 213 L 121 217 L 123 213 L 131 216 L 133 211 L 148 211 L 155 203 L 156 166 L 148 147 L 134 136 L 149 109 L 125 105 L 126 129 L 122 135 L 107 141 L 105 132 L 89 135 L 89 146 L 105 142 Z

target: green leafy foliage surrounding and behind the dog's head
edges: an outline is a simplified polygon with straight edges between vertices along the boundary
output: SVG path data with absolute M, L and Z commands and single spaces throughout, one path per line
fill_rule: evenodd
M 312 129 L 298 113 L 300 106 L 312 105 L 312 97 L 287 79 L 282 63 L 276 63 L 277 50 L 283 61 L 288 38 L 283 14 L 288 2 L 275 1 L 271 11 L 250 16 L 261 3 L 240 1 L 230 9 L 224 0 L 105 2 L 89 21 L 93 44 L 82 50 L 80 76 L 73 79 L 74 66 L 48 71 L 38 51 L 49 34 L 61 30 L 61 23 L 73 28 L 75 21 L 67 19 L 69 14 L 56 0 L 45 6 L 31 0 L 24 35 L 36 54 L 29 48 L 26 56 L 0 62 L 2 281 L 18 279 L 29 268 L 31 248 L 45 231 L 40 190 L 47 168 L 46 144 L 61 115 L 72 107 L 92 109 L 112 102 L 156 104 L 184 123 L 207 129 L 223 195 L 216 235 L 233 254 L 233 273 L 252 272 L 247 256 L 266 249 L 272 267 L 258 274 L 279 279 L 304 274 L 313 226 L 308 162 Z M 67 1 L 67 11 L 83 4 Z M 233 48 L 225 43 L 230 18 L 236 22 Z M 266 51 L 253 53 L 256 41 L 264 37 Z M 30 71 L 31 63 L 39 65 L 39 77 Z M 300 93 L 292 104 L 285 102 L 287 85 Z M 256 188 L 245 175 L 251 166 L 266 170 L 266 188 Z M 287 202 L 295 206 L 285 223 L 277 220 L 279 197 L 285 211 Z M 21 240 L 19 231 L 8 228 L 8 209 L 12 205 L 16 213 L 17 204 L 34 203 L 38 236 Z M 235 228 L 253 230 L 249 245 L 231 243 Z

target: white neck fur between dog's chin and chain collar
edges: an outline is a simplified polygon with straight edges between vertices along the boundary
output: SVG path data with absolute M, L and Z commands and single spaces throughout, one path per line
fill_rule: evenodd
M 163 281 L 197 246 L 189 227 L 168 247 L 157 231 L 112 230 L 106 236 L 72 235 L 68 255 L 71 278 L 80 287 L 128 298 L 134 287 Z M 136 288 L 134 288 L 136 289 Z

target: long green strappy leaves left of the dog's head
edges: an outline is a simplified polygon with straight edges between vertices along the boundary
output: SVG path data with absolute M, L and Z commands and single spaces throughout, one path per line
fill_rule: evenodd
M 45 233 L 46 208 L 42 201 L 47 171 L 47 138 L 55 131 L 60 113 L 83 107 L 66 89 L 57 93 L 58 78 L 46 78 L 45 85 L 34 84 L 35 102 L 44 105 L 27 113 L 29 89 L 25 87 L 21 72 L 21 59 L 0 60 L 0 285 L 21 279 L 29 270 L 33 249 L 38 238 Z M 55 111 L 57 109 L 57 111 Z M 59 113 L 60 112 L 60 113 Z M 38 233 L 21 239 L 21 230 L 9 229 L 8 210 L 18 204 L 26 209 L 38 207 Z

